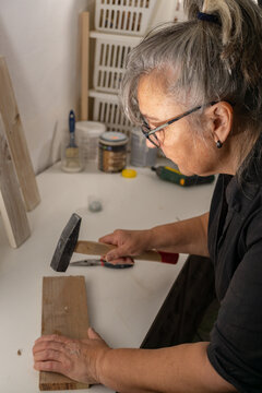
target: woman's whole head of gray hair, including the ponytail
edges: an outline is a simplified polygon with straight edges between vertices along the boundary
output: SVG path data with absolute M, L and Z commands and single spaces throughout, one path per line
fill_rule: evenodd
M 249 119 L 249 128 L 258 130 L 262 122 L 261 9 L 252 0 L 184 0 L 184 10 L 186 22 L 154 29 L 129 53 L 121 85 L 126 115 L 141 122 L 139 80 L 154 71 L 164 75 L 166 92 L 176 102 L 189 106 L 227 100 L 236 114 Z M 199 20 L 198 12 L 215 14 L 219 24 Z

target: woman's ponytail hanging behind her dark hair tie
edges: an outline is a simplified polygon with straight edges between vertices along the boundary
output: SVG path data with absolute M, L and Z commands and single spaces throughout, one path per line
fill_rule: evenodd
M 254 2 L 252 0 L 186 0 L 183 4 L 191 21 L 196 20 L 198 12 L 218 17 L 223 45 L 221 59 L 231 71 L 239 67 L 245 81 L 254 86 L 261 76 L 262 68 L 262 15 Z

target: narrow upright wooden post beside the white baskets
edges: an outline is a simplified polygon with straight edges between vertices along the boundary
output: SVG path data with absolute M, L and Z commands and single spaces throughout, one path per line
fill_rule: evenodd
M 88 119 L 90 13 L 81 13 L 81 120 Z

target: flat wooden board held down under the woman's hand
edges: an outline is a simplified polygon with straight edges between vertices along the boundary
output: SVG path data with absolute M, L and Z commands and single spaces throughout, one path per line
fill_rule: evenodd
M 87 336 L 88 317 L 84 276 L 43 278 L 41 334 L 60 334 L 71 338 Z M 40 372 L 39 389 L 86 389 L 87 384 L 55 372 Z

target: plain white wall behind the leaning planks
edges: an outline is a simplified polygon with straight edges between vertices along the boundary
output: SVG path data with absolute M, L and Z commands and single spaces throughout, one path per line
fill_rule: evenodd
M 57 134 L 79 100 L 79 13 L 94 0 L 0 0 L 0 56 L 13 82 L 36 172 L 58 157 Z

